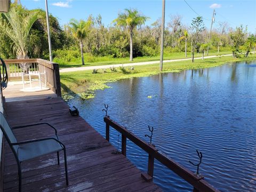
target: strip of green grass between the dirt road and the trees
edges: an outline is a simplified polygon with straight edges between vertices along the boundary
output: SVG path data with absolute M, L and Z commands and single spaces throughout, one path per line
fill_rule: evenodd
M 219 54 L 231 54 L 231 51 L 222 51 Z M 210 55 L 217 55 L 217 52 L 210 51 Z M 207 55 L 205 55 L 207 56 Z M 202 57 L 202 54 L 195 54 L 195 57 Z M 188 57 L 190 58 L 190 53 L 188 52 Z M 134 58 L 133 61 L 129 60 L 130 58 L 112 58 L 112 57 L 92 57 L 87 58 L 87 55 L 84 55 L 85 65 L 83 66 L 81 63 L 81 59 L 77 59 L 76 61 L 65 62 L 61 59 L 54 59 L 53 62 L 59 63 L 60 68 L 69 68 L 69 67 L 86 67 L 86 66 L 101 66 L 101 65 L 114 65 L 114 64 L 122 64 L 122 63 L 134 63 L 134 62 L 145 62 L 145 61 L 157 61 L 160 59 L 160 56 L 155 57 L 137 57 Z M 164 55 L 164 60 L 170 59 L 185 59 L 185 53 L 169 53 Z

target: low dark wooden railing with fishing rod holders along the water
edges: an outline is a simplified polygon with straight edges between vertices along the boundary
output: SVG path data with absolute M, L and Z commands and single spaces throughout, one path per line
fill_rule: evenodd
M 124 156 L 126 156 L 126 138 L 130 139 L 133 143 L 135 143 L 135 145 L 139 146 L 141 149 L 145 150 L 148 153 L 148 172 L 141 175 L 143 179 L 147 181 L 153 180 L 154 159 L 157 159 L 174 173 L 178 174 L 182 179 L 190 183 L 190 185 L 194 187 L 194 192 L 219 192 L 218 189 L 215 189 L 207 181 L 205 181 L 204 177 L 198 177 L 197 174 L 188 170 L 186 167 L 180 165 L 179 163 L 173 161 L 173 159 L 160 153 L 157 148 L 141 140 L 139 137 L 131 133 L 125 127 L 114 122 L 112 119 L 109 118 L 109 116 L 104 117 L 104 122 L 106 123 L 106 140 L 109 141 L 110 126 L 122 134 L 122 154 Z

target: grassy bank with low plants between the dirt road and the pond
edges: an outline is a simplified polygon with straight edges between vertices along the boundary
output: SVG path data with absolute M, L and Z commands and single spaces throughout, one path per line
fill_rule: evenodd
M 107 83 L 115 82 L 124 78 L 132 77 L 146 77 L 157 75 L 159 73 L 180 72 L 187 69 L 201 69 L 209 67 L 217 67 L 228 62 L 235 61 L 251 61 L 256 60 L 256 55 L 250 55 L 248 58 L 232 58 L 232 57 L 218 57 L 205 60 L 195 60 L 192 63 L 187 61 L 176 61 L 164 63 L 163 71 L 159 71 L 159 64 L 135 66 L 134 70 L 125 68 L 125 72 L 119 68 L 117 71 L 107 69 L 106 72 L 99 70 L 99 73 L 92 74 L 91 70 L 76 71 L 72 73 L 60 74 L 61 87 L 63 98 L 68 99 L 70 94 L 78 94 L 82 99 L 89 99 L 94 97 L 95 90 L 103 90 L 109 88 Z M 67 96 L 68 95 L 68 96 Z

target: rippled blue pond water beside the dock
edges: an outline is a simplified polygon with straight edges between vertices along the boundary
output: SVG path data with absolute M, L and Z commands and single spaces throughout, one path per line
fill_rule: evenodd
M 105 136 L 102 112 L 145 138 L 154 126 L 153 143 L 175 161 L 199 172 L 221 191 L 256 191 L 256 61 L 186 70 L 108 84 L 95 98 L 71 99 L 80 115 Z M 110 130 L 117 146 L 118 133 Z M 121 136 L 120 136 L 121 140 Z M 127 157 L 147 170 L 147 154 L 127 141 Z M 154 181 L 164 191 L 192 191 L 172 171 L 155 162 Z

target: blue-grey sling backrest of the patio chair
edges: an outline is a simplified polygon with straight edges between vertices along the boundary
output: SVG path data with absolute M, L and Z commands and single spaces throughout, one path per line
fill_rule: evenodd
M 4 137 L 6 138 L 7 142 L 9 143 L 10 147 L 13 147 L 13 149 L 16 151 L 18 150 L 18 146 L 12 146 L 12 143 L 17 142 L 17 139 L 12 132 L 12 129 L 9 125 L 9 123 L 6 121 L 5 116 L 2 112 L 0 112 L 0 127 L 4 134 Z

